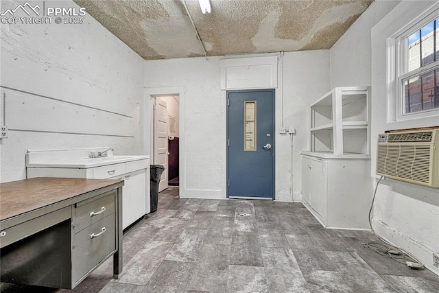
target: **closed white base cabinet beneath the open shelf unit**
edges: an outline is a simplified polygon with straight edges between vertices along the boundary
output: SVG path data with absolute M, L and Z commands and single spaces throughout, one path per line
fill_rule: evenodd
M 302 202 L 328 228 L 370 228 L 370 159 L 302 155 Z

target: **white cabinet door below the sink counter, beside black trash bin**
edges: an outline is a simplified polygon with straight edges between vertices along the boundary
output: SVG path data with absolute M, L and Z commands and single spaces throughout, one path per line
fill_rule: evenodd
M 124 176 L 122 191 L 122 226 L 126 228 L 145 215 L 145 169 Z

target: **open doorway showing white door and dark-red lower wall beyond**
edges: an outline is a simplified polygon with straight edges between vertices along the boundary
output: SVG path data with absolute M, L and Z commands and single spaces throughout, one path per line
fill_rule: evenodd
M 152 95 L 151 161 L 163 165 L 158 191 L 168 186 L 179 186 L 180 169 L 180 97 L 179 95 Z

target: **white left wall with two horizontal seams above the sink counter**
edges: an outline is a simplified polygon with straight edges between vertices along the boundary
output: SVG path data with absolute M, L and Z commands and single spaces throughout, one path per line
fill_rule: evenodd
M 2 1 L 2 9 L 16 5 Z M 2 24 L 0 85 L 10 128 L 0 141 L 1 182 L 25 178 L 28 149 L 141 152 L 143 59 L 91 16 L 77 25 Z

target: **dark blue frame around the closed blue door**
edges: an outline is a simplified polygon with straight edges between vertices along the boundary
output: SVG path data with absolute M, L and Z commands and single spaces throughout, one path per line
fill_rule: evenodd
M 260 200 L 275 200 L 276 199 L 276 89 L 246 89 L 246 90 L 229 90 L 226 91 L 226 149 L 227 149 L 227 155 L 226 155 L 226 198 L 229 198 L 229 184 L 228 184 L 228 174 L 229 174 L 229 164 L 228 164 L 228 158 L 229 158 L 229 152 L 230 148 L 228 147 L 228 126 L 229 126 L 229 93 L 254 93 L 254 92 L 271 92 L 272 93 L 272 145 L 274 145 L 274 148 L 272 148 L 272 197 L 271 198 L 260 198 Z M 246 199 L 245 197 L 242 197 L 242 199 Z

